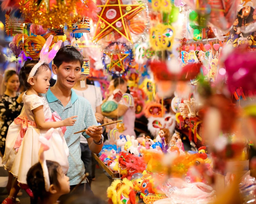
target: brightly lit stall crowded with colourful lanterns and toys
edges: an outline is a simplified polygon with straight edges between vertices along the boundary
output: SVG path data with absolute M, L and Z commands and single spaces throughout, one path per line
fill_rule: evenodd
M 5 62 L 74 46 L 82 74 L 123 120 L 93 155 L 111 179 L 108 203 L 256 203 L 254 0 L 13 0 Z M 55 76 L 52 75 L 54 78 Z M 103 100 L 104 101 L 104 100 Z M 110 117 L 125 101 L 132 116 Z M 132 124 L 130 124 L 132 123 Z M 132 128 L 130 128 L 132 127 Z

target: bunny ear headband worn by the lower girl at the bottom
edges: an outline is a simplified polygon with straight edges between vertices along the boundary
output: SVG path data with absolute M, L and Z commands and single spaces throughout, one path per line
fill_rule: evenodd
M 41 164 L 43 174 L 44 174 L 44 180 L 45 180 L 45 190 L 48 192 L 50 189 L 50 178 L 49 178 L 49 172 L 46 165 L 46 160 L 44 157 L 44 151 L 48 150 L 50 148 L 50 142 L 49 139 L 52 136 L 52 133 L 54 131 L 54 128 L 51 128 L 48 130 L 44 136 L 39 136 L 39 142 L 41 143 L 38 156 L 39 156 L 39 162 Z

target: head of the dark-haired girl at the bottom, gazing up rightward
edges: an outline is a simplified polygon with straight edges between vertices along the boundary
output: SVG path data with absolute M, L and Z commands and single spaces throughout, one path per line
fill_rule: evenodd
M 59 163 L 46 160 L 46 165 L 50 179 L 49 191 L 45 189 L 44 172 L 39 162 L 28 171 L 27 183 L 34 195 L 31 204 L 54 204 L 61 195 L 70 192 L 69 177 L 63 173 Z

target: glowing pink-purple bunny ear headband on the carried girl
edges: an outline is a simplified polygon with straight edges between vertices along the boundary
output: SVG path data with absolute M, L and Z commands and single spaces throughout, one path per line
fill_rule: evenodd
M 58 52 L 60 46 L 61 46 L 61 43 L 62 41 L 59 40 L 54 46 L 53 48 L 51 49 L 50 52 L 48 52 L 49 50 L 49 47 L 51 45 L 51 42 L 52 42 L 52 38 L 53 38 L 53 35 L 50 35 L 44 46 L 42 47 L 41 49 L 41 52 L 40 52 L 40 60 L 39 62 L 31 69 L 29 75 L 28 75 L 28 79 L 27 79 L 27 82 L 29 81 L 30 78 L 34 77 L 35 73 L 36 73 L 36 70 L 44 63 L 47 63 L 49 64 L 51 62 L 51 60 L 53 60 L 53 58 L 55 57 L 56 53 Z

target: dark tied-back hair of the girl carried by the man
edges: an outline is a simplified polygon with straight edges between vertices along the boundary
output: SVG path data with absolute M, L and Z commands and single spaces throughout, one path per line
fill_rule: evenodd
M 31 71 L 31 69 L 37 64 L 38 60 L 30 60 L 28 59 L 24 66 L 20 69 L 19 71 L 19 81 L 21 84 L 24 85 L 25 89 L 28 90 L 31 85 L 27 82 L 27 79 L 28 79 L 28 75 Z M 36 79 L 38 74 L 40 74 L 42 71 L 45 71 L 45 70 L 51 70 L 49 65 L 44 63 L 42 64 L 36 71 L 35 75 L 34 75 L 34 78 Z

